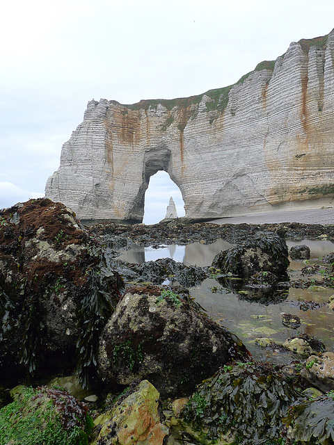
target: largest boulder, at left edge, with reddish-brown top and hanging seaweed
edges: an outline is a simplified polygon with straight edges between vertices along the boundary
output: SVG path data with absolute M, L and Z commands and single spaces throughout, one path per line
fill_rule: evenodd
M 48 199 L 0 213 L 0 371 L 87 374 L 120 277 L 74 213 Z

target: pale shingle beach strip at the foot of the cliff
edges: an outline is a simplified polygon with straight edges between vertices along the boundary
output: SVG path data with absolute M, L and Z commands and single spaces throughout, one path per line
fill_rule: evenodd
M 303 224 L 334 224 L 334 209 L 305 209 L 292 211 L 273 211 L 257 213 L 248 216 L 235 216 L 213 220 L 216 224 L 273 224 L 273 223 L 303 223 Z

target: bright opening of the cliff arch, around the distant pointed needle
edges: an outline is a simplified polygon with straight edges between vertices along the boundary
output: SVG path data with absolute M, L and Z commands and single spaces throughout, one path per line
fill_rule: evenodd
M 165 218 L 170 197 L 173 197 L 175 202 L 177 216 L 179 218 L 184 216 L 182 193 L 167 172 L 159 170 L 150 176 L 148 181 L 148 188 L 145 191 L 144 224 L 157 224 Z

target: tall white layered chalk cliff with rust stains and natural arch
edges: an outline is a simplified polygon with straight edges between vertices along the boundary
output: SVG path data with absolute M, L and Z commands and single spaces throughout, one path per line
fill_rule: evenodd
M 312 207 L 334 197 L 334 30 L 238 83 L 186 99 L 92 100 L 46 196 L 79 218 L 141 221 L 166 170 L 189 219 Z

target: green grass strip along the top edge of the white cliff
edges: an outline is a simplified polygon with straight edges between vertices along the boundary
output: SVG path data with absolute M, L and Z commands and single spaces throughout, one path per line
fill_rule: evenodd
M 301 39 L 299 40 L 299 44 L 301 45 L 301 49 L 308 54 L 308 51 L 310 50 L 310 47 L 317 47 L 322 48 L 326 45 L 326 42 L 328 40 L 328 34 L 323 35 L 321 37 L 316 37 L 312 39 Z M 285 54 L 283 54 L 281 57 L 284 58 Z M 228 93 L 232 89 L 233 86 L 239 85 L 240 83 L 244 83 L 244 81 L 256 71 L 262 71 L 262 70 L 270 70 L 273 71 L 273 68 L 275 66 L 276 60 L 263 60 L 262 62 L 258 63 L 253 71 L 248 72 L 247 74 L 244 74 L 239 81 L 236 83 L 233 83 L 232 85 L 225 86 L 223 88 L 215 88 L 213 90 L 208 90 L 207 92 L 201 93 L 200 95 L 190 96 L 190 97 L 178 97 L 176 99 L 142 99 L 139 102 L 136 102 L 136 104 L 120 104 L 119 102 L 115 100 L 111 100 L 110 102 L 116 105 L 122 105 L 126 108 L 129 108 L 130 110 L 138 111 L 141 109 L 144 109 L 145 111 L 148 110 L 148 108 L 153 107 L 157 108 L 159 104 L 167 108 L 168 111 L 171 111 L 175 106 L 178 108 L 189 108 L 192 105 L 200 104 L 202 101 L 202 97 L 204 95 L 207 95 L 212 99 L 212 102 L 208 101 L 206 106 L 208 111 L 213 109 L 218 109 L 223 111 L 225 106 L 228 104 Z

